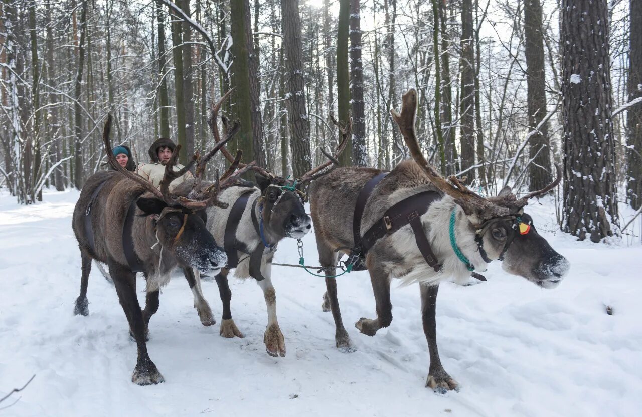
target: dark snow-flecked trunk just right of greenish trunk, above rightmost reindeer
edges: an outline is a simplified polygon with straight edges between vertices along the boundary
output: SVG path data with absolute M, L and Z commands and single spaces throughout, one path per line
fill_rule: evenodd
M 363 103 L 363 63 L 361 62 L 360 0 L 350 1 L 350 83 L 352 102 L 352 163 L 367 167 L 368 144 L 365 137 L 365 104 Z

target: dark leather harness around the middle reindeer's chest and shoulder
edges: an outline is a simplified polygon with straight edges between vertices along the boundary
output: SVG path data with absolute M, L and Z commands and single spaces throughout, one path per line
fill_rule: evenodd
M 238 229 L 241 217 L 243 216 L 243 212 L 245 212 L 247 202 L 252 193 L 254 193 L 254 191 L 245 192 L 234 202 L 234 205 L 232 205 L 232 210 L 230 210 L 230 214 L 227 217 L 227 223 L 225 223 L 223 249 L 225 249 L 225 253 L 227 254 L 226 268 L 232 269 L 238 266 L 238 252 L 241 251 L 250 257 L 250 277 L 257 281 L 263 281 L 265 277 L 263 277 L 261 273 L 261 260 L 263 259 L 263 253 L 266 248 L 263 240 L 259 242 L 256 249 L 250 251 L 245 244 L 236 239 L 236 230 Z M 256 201 L 257 200 L 254 200 L 254 204 L 252 204 L 252 223 L 254 223 L 256 233 L 260 235 L 259 221 L 256 218 Z M 242 260 L 245 259 L 247 259 L 247 257 Z

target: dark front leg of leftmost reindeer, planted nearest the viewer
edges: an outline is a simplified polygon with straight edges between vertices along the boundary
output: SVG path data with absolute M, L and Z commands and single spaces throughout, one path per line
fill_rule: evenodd
M 145 321 L 143 319 L 143 312 L 141 306 L 136 298 L 136 275 L 128 268 L 117 264 L 116 262 L 108 262 L 109 271 L 114 280 L 118 300 L 120 301 L 129 327 L 134 333 L 136 345 L 138 347 L 138 359 L 136 367 L 132 374 L 132 382 L 138 385 L 159 384 L 165 382 L 156 365 L 150 359 L 147 353 L 147 345 L 145 343 Z

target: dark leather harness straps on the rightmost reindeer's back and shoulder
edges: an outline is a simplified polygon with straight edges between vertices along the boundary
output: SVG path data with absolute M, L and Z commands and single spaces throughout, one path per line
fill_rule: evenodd
M 361 236 L 361 217 L 363 216 L 365 205 L 374 188 L 386 175 L 388 175 L 388 173 L 378 174 L 369 180 L 359 192 L 356 205 L 354 206 L 354 217 L 352 221 L 354 249 L 352 249 L 351 256 L 347 262 L 354 262 L 352 270 L 361 271 L 367 269 L 365 266 L 365 256 L 377 240 L 410 224 L 415 234 L 415 242 L 422 257 L 424 257 L 424 260 L 426 260 L 429 266 L 435 269 L 435 272 L 439 272 L 442 269 L 442 265 L 437 261 L 437 257 L 430 247 L 428 237 L 426 237 L 426 232 L 421 223 L 421 215 L 428 211 L 432 203 L 442 199 L 442 195 L 438 192 L 419 192 L 418 194 L 399 201 L 390 207 L 390 209 L 386 210 L 383 217 L 377 220 L 374 225 L 370 226 L 365 234 Z

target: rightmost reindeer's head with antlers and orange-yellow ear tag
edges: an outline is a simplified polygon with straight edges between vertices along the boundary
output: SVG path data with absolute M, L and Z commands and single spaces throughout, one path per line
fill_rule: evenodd
M 520 275 L 543 288 L 557 287 L 568 273 L 570 264 L 537 233 L 532 217 L 524 212 L 524 207 L 530 198 L 546 194 L 560 183 L 560 167 L 556 166 L 555 181 L 519 200 L 510 187 L 505 187 L 496 197 L 483 198 L 467 189 L 455 176 L 449 178 L 450 183 L 447 182 L 424 158 L 415 136 L 416 110 L 417 92 L 410 89 L 403 95 L 401 114 L 394 110 L 391 112 L 417 165 L 435 187 L 453 198 L 464 210 L 482 257 L 486 262 L 503 260 L 505 271 Z

